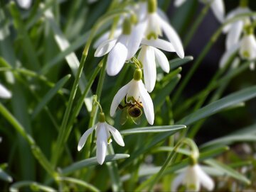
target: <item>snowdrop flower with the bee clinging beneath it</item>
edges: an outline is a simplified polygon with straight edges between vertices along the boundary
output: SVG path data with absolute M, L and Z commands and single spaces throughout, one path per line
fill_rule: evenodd
M 114 96 L 113 101 L 110 106 L 110 115 L 113 116 L 119 103 L 121 103 L 123 98 L 126 98 L 127 103 L 142 103 L 144 113 L 146 115 L 146 120 L 150 125 L 154 123 L 154 106 L 149 96 L 149 93 L 146 91 L 144 84 L 142 83 L 142 70 L 136 69 L 134 72 L 134 77 L 128 84 L 123 86 L 117 94 Z

